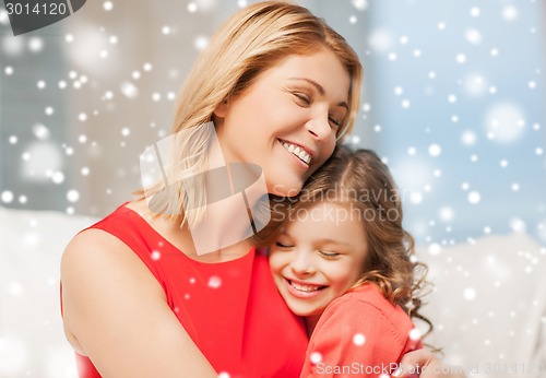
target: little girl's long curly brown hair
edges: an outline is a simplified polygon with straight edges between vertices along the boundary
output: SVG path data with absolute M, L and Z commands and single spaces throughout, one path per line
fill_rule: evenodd
M 275 215 L 297 222 L 300 209 L 325 201 L 347 205 L 349 216 L 358 216 L 366 233 L 368 250 L 363 273 L 349 291 L 376 284 L 387 299 L 425 321 L 430 332 L 431 322 L 419 314 L 422 296 L 429 286 L 425 280 L 427 267 L 413 259 L 414 239 L 402 226 L 402 201 L 389 168 L 373 151 L 337 146 L 299 196 L 278 202 Z M 282 223 L 274 225 L 270 233 L 276 236 Z

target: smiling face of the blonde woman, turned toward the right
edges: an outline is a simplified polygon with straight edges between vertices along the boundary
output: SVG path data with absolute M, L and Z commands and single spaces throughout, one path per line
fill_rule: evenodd
M 261 166 L 270 193 L 297 194 L 333 152 L 349 84 L 347 70 L 327 48 L 281 59 L 216 108 L 224 158 Z

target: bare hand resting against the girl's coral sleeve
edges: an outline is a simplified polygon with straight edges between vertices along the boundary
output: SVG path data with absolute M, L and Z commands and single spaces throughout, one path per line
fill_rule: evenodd
M 417 350 L 404 354 L 399 369 L 392 374 L 392 377 L 466 378 L 461 367 L 444 364 L 427 350 Z

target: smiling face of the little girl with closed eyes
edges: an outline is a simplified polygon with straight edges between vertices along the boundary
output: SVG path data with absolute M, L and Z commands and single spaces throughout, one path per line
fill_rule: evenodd
M 270 250 L 270 268 L 290 310 L 320 317 L 365 270 L 367 240 L 361 212 L 319 202 L 299 209 Z

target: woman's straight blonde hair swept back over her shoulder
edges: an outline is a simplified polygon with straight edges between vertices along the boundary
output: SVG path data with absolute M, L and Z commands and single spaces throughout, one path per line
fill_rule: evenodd
M 337 139 L 351 132 L 360 103 L 361 66 L 347 42 L 309 10 L 289 2 L 264 1 L 246 7 L 228 19 L 213 35 L 195 61 L 182 86 L 176 106 L 170 146 L 170 168 L 164 177 L 173 180 L 204 173 L 214 128 L 214 110 L 225 101 L 241 94 L 257 78 L 288 55 L 307 55 L 320 48 L 333 51 L 351 76 L 348 111 L 337 131 Z M 211 131 L 212 130 L 212 131 Z M 176 167 L 176 169 L 175 169 Z M 176 173 L 175 173 L 176 170 Z M 191 226 L 199 222 L 199 211 L 183 214 L 183 209 L 204 209 L 204 179 L 193 179 L 192 190 L 181 180 L 168 188 L 161 181 L 138 191 L 142 199 L 161 193 L 154 212 Z

